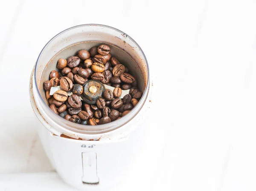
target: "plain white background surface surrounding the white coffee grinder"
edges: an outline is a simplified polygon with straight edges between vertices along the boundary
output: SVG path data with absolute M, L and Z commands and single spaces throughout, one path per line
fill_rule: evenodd
M 148 165 L 153 181 L 131 188 L 256 190 L 256 1 L 13 0 L 0 7 L 0 191 L 73 190 L 38 140 L 28 86 L 49 39 L 84 23 L 134 38 L 154 78 L 150 123 L 161 140 L 151 140 L 161 161 Z

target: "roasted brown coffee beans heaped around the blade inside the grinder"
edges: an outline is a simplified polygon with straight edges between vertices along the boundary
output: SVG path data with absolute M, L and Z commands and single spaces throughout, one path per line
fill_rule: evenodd
M 137 105 L 143 94 L 137 88 L 137 80 L 110 52 L 108 45 L 101 44 L 89 51 L 80 50 L 76 56 L 58 60 L 57 69 L 52 70 L 49 80 L 44 82 L 46 98 L 54 113 L 74 123 L 97 125 L 113 122 Z M 96 104 L 87 104 L 80 95 L 84 91 L 83 84 L 88 80 L 101 81 L 115 89 L 113 92 L 106 89 Z M 51 87 L 55 86 L 61 86 L 61 90 L 49 95 Z M 122 90 L 129 89 L 129 94 L 119 98 Z M 68 91 L 73 94 L 68 96 Z

